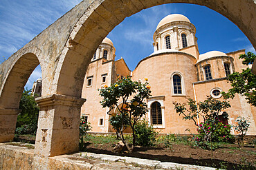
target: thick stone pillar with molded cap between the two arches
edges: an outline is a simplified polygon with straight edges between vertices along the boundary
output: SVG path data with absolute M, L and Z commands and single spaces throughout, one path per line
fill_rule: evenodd
M 48 157 L 78 151 L 80 109 L 86 99 L 53 94 L 36 100 L 40 111 L 35 153 Z

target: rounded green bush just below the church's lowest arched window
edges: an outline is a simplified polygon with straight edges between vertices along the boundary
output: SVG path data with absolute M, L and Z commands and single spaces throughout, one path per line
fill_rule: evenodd
M 147 120 L 143 119 L 135 125 L 135 134 L 136 145 L 148 147 L 154 145 L 158 133 L 149 125 Z

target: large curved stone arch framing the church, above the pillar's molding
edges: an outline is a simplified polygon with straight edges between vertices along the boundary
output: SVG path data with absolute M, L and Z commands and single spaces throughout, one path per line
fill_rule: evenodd
M 253 0 L 246 3 L 241 0 L 93 1 L 77 21 L 62 51 L 55 74 L 56 93 L 80 97 L 86 67 L 104 37 L 126 17 L 164 3 L 194 3 L 215 10 L 235 23 L 256 47 L 256 32 L 253 30 L 256 27 L 253 22 L 256 4 Z M 64 83 L 66 78 L 71 83 Z

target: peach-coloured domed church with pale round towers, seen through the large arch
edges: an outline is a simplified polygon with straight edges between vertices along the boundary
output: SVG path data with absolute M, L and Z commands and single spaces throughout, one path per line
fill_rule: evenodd
M 192 120 L 185 121 L 176 114 L 173 102 L 185 103 L 192 98 L 198 103 L 206 96 L 223 100 L 221 92 L 228 92 L 231 87 L 227 76 L 248 66 L 239 60 L 239 55 L 245 50 L 199 54 L 195 34 L 195 26 L 184 15 L 170 14 L 163 18 L 153 35 L 154 52 L 142 59 L 132 72 L 124 59 L 115 61 L 116 48 L 110 39 L 105 38 L 91 59 L 82 89 L 82 98 L 87 100 L 81 108 L 81 116 L 91 123 L 91 131 L 114 131 L 109 124 L 108 108 L 100 105 L 102 97 L 98 89 L 110 86 L 119 77 L 130 76 L 133 81 L 145 83 L 145 78 L 149 80 L 152 96 L 147 98 L 146 118 L 156 131 L 189 134 L 187 129 L 190 129 L 196 133 Z M 230 105 L 226 109 L 229 115 L 227 123 L 235 125 L 237 117 L 242 116 L 250 121 L 248 134 L 255 135 L 256 108 L 238 94 L 230 100 Z M 234 129 L 231 129 L 231 134 L 235 134 Z

